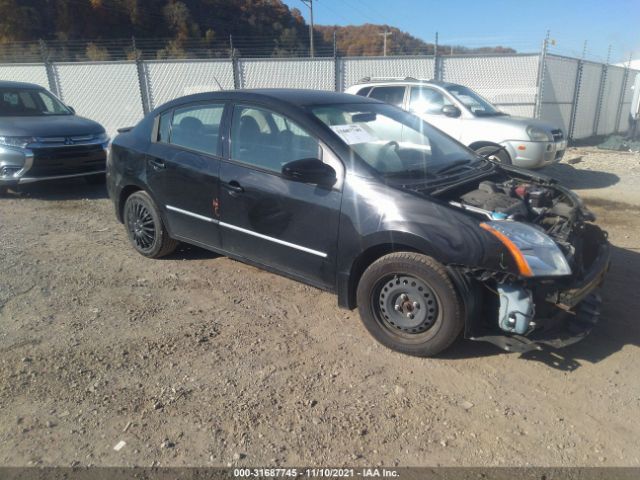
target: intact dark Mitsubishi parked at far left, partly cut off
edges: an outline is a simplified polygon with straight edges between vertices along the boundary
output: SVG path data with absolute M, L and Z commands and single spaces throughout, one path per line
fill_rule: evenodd
M 104 181 L 109 137 L 39 85 L 0 81 L 0 193 L 43 180 Z

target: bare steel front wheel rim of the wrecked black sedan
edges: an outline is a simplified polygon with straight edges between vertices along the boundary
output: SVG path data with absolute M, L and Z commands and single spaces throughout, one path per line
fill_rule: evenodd
M 374 308 L 383 325 L 396 332 L 422 333 L 438 318 L 438 298 L 422 280 L 410 275 L 383 279 Z

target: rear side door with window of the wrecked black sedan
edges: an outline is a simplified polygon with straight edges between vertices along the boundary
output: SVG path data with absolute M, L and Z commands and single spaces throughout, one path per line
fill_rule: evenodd
M 147 157 L 147 183 L 173 236 L 220 247 L 217 224 L 225 103 L 175 107 L 157 120 Z

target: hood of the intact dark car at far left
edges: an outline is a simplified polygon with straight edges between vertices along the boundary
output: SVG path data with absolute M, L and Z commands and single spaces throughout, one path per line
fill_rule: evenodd
M 77 115 L 0 117 L 0 135 L 15 137 L 68 137 L 104 133 L 97 122 Z

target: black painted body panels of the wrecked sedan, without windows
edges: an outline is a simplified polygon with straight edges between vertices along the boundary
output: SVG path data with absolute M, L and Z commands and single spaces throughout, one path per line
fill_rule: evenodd
M 293 98 L 282 100 L 273 93 L 270 90 L 236 91 L 183 97 L 151 112 L 131 131 L 116 137 L 111 147 L 111 162 L 116 164 L 108 168 L 107 184 L 118 218 L 122 220 L 123 197 L 132 187 L 147 190 L 160 206 L 172 237 L 336 292 L 339 304 L 347 308 L 355 306 L 355 281 L 361 273 L 361 260 L 394 249 L 423 252 L 447 265 L 500 270 L 506 262 L 513 268 L 502 244 L 479 228 L 477 220 L 443 202 L 381 182 L 367 165 L 353 158 L 336 134 L 311 115 L 304 102 L 296 97 L 314 105 L 322 101 L 378 103 L 376 100 L 306 91 L 293 91 Z M 293 103 L 296 100 L 297 103 Z M 180 105 L 209 101 L 227 103 L 219 156 L 151 141 L 153 119 L 160 113 Z M 233 103 L 268 108 L 317 135 L 321 143 L 343 161 L 346 175 L 342 191 L 296 182 L 230 160 L 229 107 Z M 165 152 L 164 168 L 158 169 L 151 163 L 161 155 L 157 150 Z M 177 165 L 176 155 L 183 161 L 181 165 Z M 160 182 L 158 176 L 162 175 L 172 181 Z M 244 189 L 235 198 L 228 189 L 232 182 Z M 170 195 L 171 201 L 182 202 L 179 205 L 185 210 L 203 217 L 301 245 L 326 257 L 223 228 L 220 224 L 184 217 L 166 208 L 165 195 Z M 212 205 L 216 199 L 219 216 Z M 394 211 L 385 210 L 385 206 L 392 206 Z

